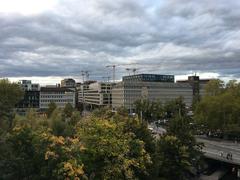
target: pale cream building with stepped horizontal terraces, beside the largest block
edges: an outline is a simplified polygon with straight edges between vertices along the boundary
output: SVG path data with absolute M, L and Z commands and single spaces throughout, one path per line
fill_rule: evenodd
M 78 91 L 78 102 L 93 106 L 111 105 L 112 86 L 113 83 L 108 82 L 94 82 L 91 84 L 84 84 Z

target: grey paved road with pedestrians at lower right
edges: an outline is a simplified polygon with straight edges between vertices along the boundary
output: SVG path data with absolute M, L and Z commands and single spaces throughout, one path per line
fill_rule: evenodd
M 207 138 L 196 138 L 198 142 L 204 143 L 203 152 L 208 158 L 240 165 L 240 144 L 229 141 L 216 141 Z M 227 158 L 227 154 L 232 154 L 232 159 Z

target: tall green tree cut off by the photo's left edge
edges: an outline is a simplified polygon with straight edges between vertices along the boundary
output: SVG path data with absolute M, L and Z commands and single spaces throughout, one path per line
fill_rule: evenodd
M 23 91 L 16 83 L 0 80 L 0 127 L 12 126 L 13 108 L 22 99 Z

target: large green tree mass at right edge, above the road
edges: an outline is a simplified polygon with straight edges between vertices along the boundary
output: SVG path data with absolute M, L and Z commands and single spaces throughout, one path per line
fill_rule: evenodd
M 212 85 L 212 82 L 209 84 Z M 209 84 L 207 86 L 212 87 Z M 218 88 L 209 89 L 197 105 L 195 120 L 210 131 L 227 132 L 233 124 L 240 127 L 240 84 L 230 81 L 225 89 L 222 89 L 221 83 L 220 88 L 219 83 L 217 85 Z

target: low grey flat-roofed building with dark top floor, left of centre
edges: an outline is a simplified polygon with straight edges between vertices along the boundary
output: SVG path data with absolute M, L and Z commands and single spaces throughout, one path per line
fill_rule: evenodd
M 40 90 L 40 109 L 47 109 L 49 103 L 54 102 L 57 107 L 64 108 L 70 103 L 76 106 L 76 92 L 71 88 L 63 87 L 41 87 Z

